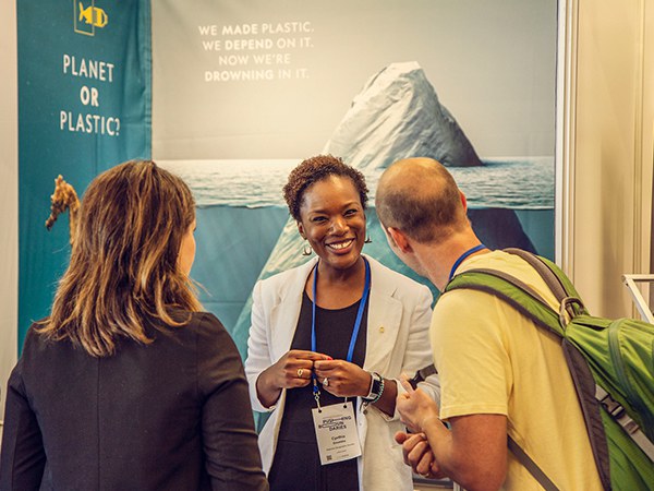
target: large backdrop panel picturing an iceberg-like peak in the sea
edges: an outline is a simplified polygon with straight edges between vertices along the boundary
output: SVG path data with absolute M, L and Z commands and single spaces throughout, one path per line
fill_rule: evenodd
M 192 274 L 242 352 L 256 278 L 304 260 L 281 185 L 322 152 L 373 192 L 392 160 L 439 158 L 489 247 L 554 255 L 556 1 L 153 8 L 153 154 L 195 192 Z M 365 252 L 411 274 L 367 215 Z

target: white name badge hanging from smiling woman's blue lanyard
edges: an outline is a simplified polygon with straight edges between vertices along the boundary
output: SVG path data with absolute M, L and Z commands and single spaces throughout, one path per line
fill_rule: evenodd
M 335 464 L 361 455 L 352 402 L 312 409 L 320 464 Z

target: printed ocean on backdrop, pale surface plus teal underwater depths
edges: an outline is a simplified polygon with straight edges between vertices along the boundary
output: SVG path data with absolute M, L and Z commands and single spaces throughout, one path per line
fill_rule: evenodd
M 281 189 L 301 159 L 157 161 L 193 190 L 198 205 L 197 254 L 191 274 L 203 285 L 201 301 L 223 322 L 245 356 L 250 292 L 263 274 L 283 262 L 284 252 L 275 252 L 289 217 Z M 536 252 L 552 259 L 554 158 L 486 158 L 484 163 L 484 167 L 449 169 L 474 211 L 475 231 L 493 247 L 484 235 L 498 241 L 497 247 L 509 247 L 517 246 L 512 241 L 524 232 Z M 380 173 L 366 175 L 371 197 Z M 512 221 L 509 227 L 499 219 L 507 213 L 497 208 L 513 209 L 519 225 Z M 366 253 L 428 286 L 392 254 L 372 207 L 368 231 L 373 243 L 366 246 Z M 287 252 L 302 259 L 301 243 L 296 251 Z

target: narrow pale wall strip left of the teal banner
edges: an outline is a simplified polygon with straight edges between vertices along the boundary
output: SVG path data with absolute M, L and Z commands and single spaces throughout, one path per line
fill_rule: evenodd
M 0 2 L 0 420 L 16 362 L 19 322 L 19 140 L 16 2 Z

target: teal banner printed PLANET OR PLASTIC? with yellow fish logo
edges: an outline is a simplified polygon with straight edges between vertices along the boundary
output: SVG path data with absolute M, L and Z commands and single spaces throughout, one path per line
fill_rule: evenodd
M 19 0 L 19 347 L 47 315 L 70 255 L 50 231 L 59 175 L 78 197 L 99 172 L 150 156 L 148 0 Z

